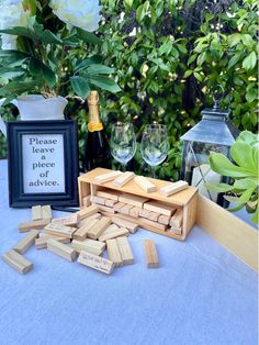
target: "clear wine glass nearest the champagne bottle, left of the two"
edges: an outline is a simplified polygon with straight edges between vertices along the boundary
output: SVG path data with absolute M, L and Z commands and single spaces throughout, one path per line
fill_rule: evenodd
M 122 170 L 136 153 L 136 135 L 132 123 L 117 122 L 112 125 L 110 148 L 112 156 L 121 163 Z

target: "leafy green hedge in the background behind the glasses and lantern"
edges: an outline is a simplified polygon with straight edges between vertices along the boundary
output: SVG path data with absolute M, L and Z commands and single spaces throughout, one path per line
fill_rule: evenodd
M 257 14 L 252 0 L 204 2 L 183 0 L 102 0 L 102 45 L 88 47 L 116 70 L 122 92 L 102 91 L 102 116 L 109 136 L 117 120 L 135 124 L 138 142 L 151 121 L 167 124 L 171 149 L 158 168 L 160 178 L 177 179 L 181 165 L 179 137 L 212 105 L 212 90 L 227 91 L 223 104 L 240 129 L 257 129 Z M 206 3 L 206 5 L 205 5 Z M 80 56 L 82 49 L 75 52 Z M 80 159 L 87 136 L 85 104 L 70 102 L 78 120 Z M 2 154 L 2 152 L 0 153 Z M 114 162 L 112 162 L 114 164 Z M 139 151 L 130 166 L 146 174 Z

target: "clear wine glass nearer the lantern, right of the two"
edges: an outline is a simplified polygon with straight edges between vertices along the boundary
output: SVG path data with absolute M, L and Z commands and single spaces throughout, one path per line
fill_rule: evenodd
M 156 177 L 156 166 L 161 164 L 169 151 L 167 127 L 164 124 L 147 124 L 144 129 L 140 152 L 144 160 L 151 166 L 151 177 Z

